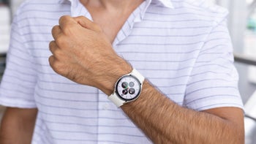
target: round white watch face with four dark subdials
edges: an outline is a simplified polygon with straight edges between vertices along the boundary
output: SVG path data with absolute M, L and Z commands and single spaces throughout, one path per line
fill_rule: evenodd
M 136 99 L 140 94 L 140 82 L 132 75 L 125 75 L 116 85 L 117 95 L 126 101 Z

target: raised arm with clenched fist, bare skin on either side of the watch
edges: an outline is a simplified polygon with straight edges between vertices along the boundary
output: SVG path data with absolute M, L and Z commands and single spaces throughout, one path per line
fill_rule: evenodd
M 84 17 L 61 17 L 53 27 L 49 62 L 70 80 L 110 95 L 118 77 L 132 71 L 99 26 Z M 135 102 L 121 107 L 154 143 L 244 143 L 243 112 L 222 107 L 197 112 L 176 105 L 146 80 Z

